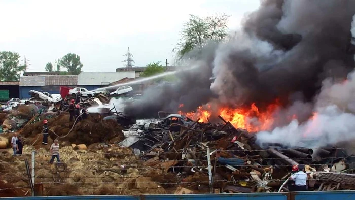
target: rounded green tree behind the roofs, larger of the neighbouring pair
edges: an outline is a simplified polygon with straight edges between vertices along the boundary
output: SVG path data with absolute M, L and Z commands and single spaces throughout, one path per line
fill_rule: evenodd
M 64 68 L 67 69 L 67 71 L 72 74 L 72 75 L 78 75 L 81 72 L 81 69 L 83 68 L 83 64 L 80 62 L 80 56 L 76 55 L 74 53 L 68 53 L 64 55 L 58 63 Z

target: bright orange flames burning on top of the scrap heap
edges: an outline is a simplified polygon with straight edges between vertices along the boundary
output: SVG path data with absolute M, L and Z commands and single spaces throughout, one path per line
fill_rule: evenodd
M 179 108 L 184 107 L 180 105 Z M 193 120 L 200 118 L 199 122 L 208 122 L 211 116 L 217 117 L 220 115 L 226 121 L 229 121 L 235 128 L 247 129 L 251 132 L 260 130 L 269 130 L 274 123 L 273 113 L 280 107 L 280 103 L 276 100 L 274 103 L 268 105 L 265 110 L 260 111 L 255 103 L 249 107 L 243 108 L 228 108 L 222 107 L 218 109 L 217 113 L 212 113 L 211 106 L 199 106 L 195 112 L 183 113 L 179 111 L 179 114 L 183 114 Z M 296 116 L 292 116 L 292 118 Z

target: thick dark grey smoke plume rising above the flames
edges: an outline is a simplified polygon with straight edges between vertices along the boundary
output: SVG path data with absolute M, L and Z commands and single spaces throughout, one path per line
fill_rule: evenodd
M 192 111 L 212 100 L 221 106 L 262 107 L 294 93 L 313 102 L 323 80 L 346 77 L 353 69 L 354 14 L 353 0 L 261 1 L 234 37 L 208 45 L 190 63 L 193 69 L 178 74 L 176 84 L 148 89 L 125 112 L 153 117 L 180 104 Z

